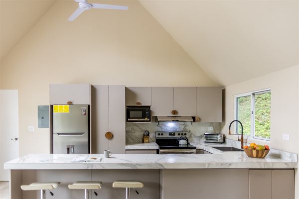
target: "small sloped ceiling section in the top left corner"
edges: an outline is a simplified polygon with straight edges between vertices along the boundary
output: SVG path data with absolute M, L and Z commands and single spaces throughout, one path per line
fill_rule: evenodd
M 0 0 L 0 60 L 55 0 Z

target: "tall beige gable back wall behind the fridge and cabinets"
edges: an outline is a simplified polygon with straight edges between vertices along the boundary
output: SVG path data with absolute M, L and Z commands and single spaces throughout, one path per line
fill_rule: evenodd
M 138 1 L 111 3 L 129 10 L 92 9 L 69 22 L 77 4 L 56 1 L 3 59 L 2 88 L 19 91 L 20 155 L 49 152 L 37 105 L 49 103 L 51 83 L 215 85 Z

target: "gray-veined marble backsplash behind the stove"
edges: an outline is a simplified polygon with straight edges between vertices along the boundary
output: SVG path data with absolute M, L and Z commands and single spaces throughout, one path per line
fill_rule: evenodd
M 219 133 L 220 123 L 202 122 L 157 122 L 152 123 L 126 123 L 126 145 L 142 142 L 144 130 L 149 130 L 149 141 L 155 142 L 155 131 L 188 131 L 189 142 L 203 142 L 204 133 Z M 213 127 L 213 130 L 209 130 Z

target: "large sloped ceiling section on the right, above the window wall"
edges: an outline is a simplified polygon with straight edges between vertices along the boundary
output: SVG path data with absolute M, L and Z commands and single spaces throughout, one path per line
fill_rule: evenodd
M 140 2 L 219 85 L 298 65 L 298 0 Z

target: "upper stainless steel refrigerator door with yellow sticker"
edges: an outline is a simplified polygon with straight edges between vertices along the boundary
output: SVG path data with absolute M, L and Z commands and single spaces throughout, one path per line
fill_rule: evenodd
M 89 105 L 53 105 L 53 133 L 89 133 Z

